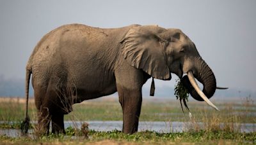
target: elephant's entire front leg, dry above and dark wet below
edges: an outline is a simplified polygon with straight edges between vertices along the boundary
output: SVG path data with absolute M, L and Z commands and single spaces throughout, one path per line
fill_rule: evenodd
M 116 88 L 123 109 L 123 132 L 132 134 L 138 131 L 141 110 L 141 88 L 144 82 L 143 71 L 128 64 L 116 69 Z

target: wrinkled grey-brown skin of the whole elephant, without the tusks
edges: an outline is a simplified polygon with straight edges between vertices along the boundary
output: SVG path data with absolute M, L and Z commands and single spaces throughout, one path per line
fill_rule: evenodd
M 72 104 L 117 91 L 123 132 L 132 134 L 138 130 L 141 87 L 147 79 L 170 80 L 171 72 L 182 78 L 188 71 L 211 97 L 216 90 L 214 74 L 179 29 L 63 25 L 46 34 L 31 54 L 26 66 L 26 95 L 32 74 L 40 132 L 48 133 L 52 121 L 52 132 L 65 133 L 63 115 L 72 111 Z

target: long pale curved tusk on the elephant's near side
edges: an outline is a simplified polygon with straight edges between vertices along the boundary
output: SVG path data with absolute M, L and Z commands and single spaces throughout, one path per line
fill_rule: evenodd
M 214 106 L 214 104 L 212 104 L 212 102 L 205 96 L 204 92 L 202 92 L 202 90 L 200 90 L 199 86 L 196 83 L 196 80 L 193 76 L 193 73 L 191 71 L 188 72 L 188 79 L 191 83 L 191 85 L 193 86 L 193 88 L 195 88 L 196 92 L 200 95 L 200 97 L 202 97 L 202 99 L 205 100 L 205 102 L 207 102 L 207 104 L 211 107 L 213 107 L 214 109 L 220 111 L 218 109 L 218 107 Z

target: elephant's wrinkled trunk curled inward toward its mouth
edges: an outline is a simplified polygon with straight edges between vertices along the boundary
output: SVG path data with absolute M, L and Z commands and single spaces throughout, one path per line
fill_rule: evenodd
M 216 90 L 216 79 L 211 68 L 203 59 L 198 58 L 195 60 L 195 70 L 196 71 L 193 72 L 193 75 L 198 81 L 200 81 L 200 83 L 204 85 L 203 93 L 208 99 L 211 98 Z M 184 76 L 182 78 L 182 83 L 186 86 L 186 88 L 188 88 L 189 93 L 194 99 L 199 101 L 204 100 L 202 97 L 200 97 L 200 95 L 198 95 L 195 88 L 191 85 L 188 76 Z

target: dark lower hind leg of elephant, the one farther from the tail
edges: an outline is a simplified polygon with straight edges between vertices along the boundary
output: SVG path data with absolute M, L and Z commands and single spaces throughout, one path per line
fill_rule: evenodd
M 64 114 L 52 114 L 52 133 L 65 134 Z

